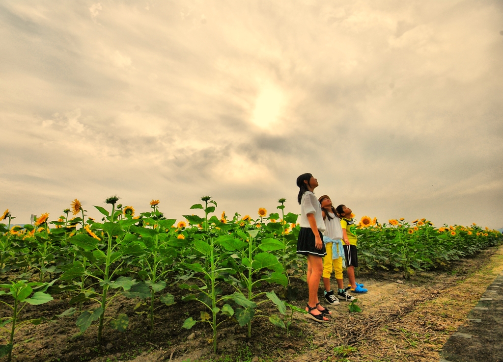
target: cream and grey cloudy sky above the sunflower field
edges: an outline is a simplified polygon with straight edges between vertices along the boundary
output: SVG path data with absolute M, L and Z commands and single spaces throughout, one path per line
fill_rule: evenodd
M 311 172 L 380 221 L 503 226 L 500 1 L 0 3 L 0 212 L 257 215 Z

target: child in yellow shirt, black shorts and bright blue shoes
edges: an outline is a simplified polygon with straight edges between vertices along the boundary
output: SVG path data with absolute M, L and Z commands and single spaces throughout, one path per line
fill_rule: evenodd
M 336 207 L 336 212 L 341 218 L 341 227 L 343 229 L 344 255 L 346 256 L 346 265 L 348 267 L 348 279 L 351 284 L 351 291 L 354 293 L 367 293 L 367 289 L 362 284 L 355 281 L 355 268 L 358 267 L 358 254 L 356 252 L 356 226 L 351 218 L 351 209 L 346 205 Z

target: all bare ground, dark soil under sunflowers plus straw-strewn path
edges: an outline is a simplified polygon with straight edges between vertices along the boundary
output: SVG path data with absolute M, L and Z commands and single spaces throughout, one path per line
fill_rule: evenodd
M 175 295 L 177 303 L 157 309 L 153 330 L 149 329 L 147 316 L 137 313 L 142 309 L 134 309 L 138 300 L 118 297 L 110 314 L 126 313 L 130 320 L 127 331 L 106 328 L 104 341 L 99 344 L 96 325 L 85 335 L 71 339 L 78 332 L 76 316 L 30 325 L 16 334 L 18 345 L 13 360 L 438 361 L 439 351 L 449 336 L 466 321 L 470 310 L 502 270 L 500 247 L 452 263 L 445 270 L 415 274 L 411 281 L 403 283 L 397 283 L 403 278 L 393 271 L 360 272 L 358 282 L 369 289 L 368 293 L 357 295 L 361 313 L 350 313 L 345 301 L 330 307 L 333 314 L 328 323 L 316 323 L 295 313 L 290 335 L 267 318 L 255 318 L 251 338 L 247 338 L 246 327 L 229 319 L 219 328 L 216 355 L 209 343 L 212 333 L 207 323 L 198 323 L 191 330 L 182 328 L 186 318 L 199 319 L 203 309 L 199 303 L 182 302 L 186 291 L 173 286 L 167 291 Z M 307 287 L 300 279 L 293 284 L 298 287 L 299 296 L 292 304 L 304 307 Z M 281 288 L 275 287 L 275 291 L 279 295 Z M 50 319 L 68 309 L 69 296 L 53 297 L 54 301 L 47 304 L 27 305 L 22 318 L 42 315 Z M 7 301 L 5 296 L 4 299 Z M 278 314 L 270 303 L 261 304 L 261 309 L 260 314 Z M 9 313 L 0 306 L 0 315 Z

